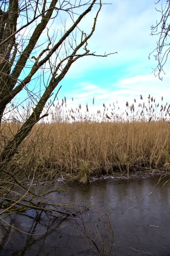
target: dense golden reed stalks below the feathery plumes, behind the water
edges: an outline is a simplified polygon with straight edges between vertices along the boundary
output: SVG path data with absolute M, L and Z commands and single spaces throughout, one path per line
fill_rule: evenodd
M 10 137 L 14 124 L 3 129 Z M 3 143 L 3 141 L 1 141 Z M 79 178 L 128 167 L 169 168 L 167 122 L 58 123 L 35 125 L 18 148 L 19 165 L 58 169 Z M 84 175 L 83 175 L 84 173 Z

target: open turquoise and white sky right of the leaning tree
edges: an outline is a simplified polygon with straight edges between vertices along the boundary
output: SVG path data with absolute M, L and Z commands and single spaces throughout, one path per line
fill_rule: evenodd
M 92 106 L 94 97 L 96 108 L 118 101 L 124 109 L 127 101 L 131 104 L 135 98 L 140 102 L 140 94 L 147 101 L 150 94 L 157 102 L 161 102 L 163 96 L 164 102 L 169 104 L 169 61 L 160 81 L 152 69 L 157 65 L 154 56 L 148 58 L 158 39 L 150 35 L 151 25 L 160 18 L 155 7 L 160 8 L 165 2 L 162 0 L 156 6 L 154 0 L 107 0 L 112 4 L 102 6 L 88 49 L 96 54 L 118 53 L 76 61 L 61 81 L 59 100 L 66 96 L 70 106 L 77 107 L 80 103 Z

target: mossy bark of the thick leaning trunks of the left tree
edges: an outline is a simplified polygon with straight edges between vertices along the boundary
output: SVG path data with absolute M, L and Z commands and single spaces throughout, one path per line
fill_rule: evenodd
M 12 0 L 11 0 L 12 1 Z M 16 1 L 16 0 L 13 0 Z M 63 43 L 63 41 L 65 41 L 65 39 L 71 34 L 71 32 L 77 27 L 78 23 L 80 23 L 80 21 L 82 20 L 82 18 L 91 11 L 92 7 L 94 6 L 96 0 L 93 0 L 92 3 L 89 5 L 89 7 L 78 17 L 78 19 L 75 21 L 75 23 L 71 26 L 71 28 L 65 32 L 65 34 L 63 35 L 63 37 L 58 41 L 57 44 L 55 44 L 51 50 L 49 50 L 49 53 L 46 55 L 45 58 L 43 58 L 42 61 L 38 62 L 38 58 L 35 61 L 35 64 L 33 65 L 29 75 L 20 82 L 20 84 L 17 85 L 17 87 L 14 87 L 17 79 L 21 73 L 21 71 L 23 70 L 23 68 L 25 67 L 26 61 L 29 58 L 30 53 L 32 52 L 32 50 L 35 47 L 35 44 L 38 40 L 38 38 L 40 37 L 40 35 L 43 32 L 43 29 L 45 28 L 46 24 L 48 23 L 49 19 L 52 16 L 52 10 L 48 11 L 45 15 L 45 18 L 42 19 L 42 21 L 37 25 L 35 31 L 32 34 L 31 39 L 29 40 L 29 44 L 27 45 L 27 47 L 24 49 L 23 53 L 20 55 L 20 58 L 17 61 L 16 66 L 14 67 L 12 74 L 8 76 L 8 78 L 6 79 L 6 84 L 4 87 L 4 91 L 5 93 L 0 95 L 0 119 L 2 118 L 3 115 L 3 111 L 6 108 L 6 105 L 14 98 L 14 96 L 17 95 L 17 93 L 19 93 L 23 87 L 26 86 L 26 84 L 29 83 L 29 81 L 31 81 L 32 76 L 37 72 L 37 70 L 44 64 L 46 63 L 46 61 L 49 60 L 49 58 L 52 56 L 52 54 L 56 51 L 56 49 L 58 49 L 58 47 Z M 51 2 L 50 7 L 55 6 L 55 4 L 57 3 L 57 0 L 53 0 Z M 87 50 L 87 41 L 88 39 L 92 36 L 93 32 L 95 31 L 95 26 L 96 26 L 96 20 L 98 17 L 98 14 L 101 10 L 101 3 L 100 3 L 100 7 L 98 9 L 98 12 L 95 16 L 94 19 L 94 23 L 91 29 L 91 32 L 89 33 L 89 35 L 84 34 L 84 39 L 81 38 L 81 41 L 79 44 L 76 45 L 75 49 L 73 49 L 73 52 L 71 55 L 67 56 L 66 58 L 63 58 L 62 61 L 59 62 L 59 64 L 57 65 L 57 67 L 55 68 L 55 71 L 52 74 L 52 78 L 49 81 L 48 86 L 46 86 L 46 89 L 43 93 L 43 95 L 41 96 L 39 102 L 37 103 L 37 105 L 35 106 L 35 108 L 33 109 L 33 112 L 31 114 L 31 116 L 26 120 L 26 122 L 22 125 L 22 127 L 20 128 L 20 130 L 17 132 L 17 134 L 14 135 L 14 137 L 9 141 L 9 143 L 6 145 L 6 147 L 4 148 L 4 150 L 2 151 L 1 155 L 0 155 L 0 160 L 3 163 L 8 162 L 16 153 L 17 151 L 17 147 L 20 145 L 20 143 L 23 142 L 23 140 L 27 137 L 27 135 L 30 133 L 30 131 L 32 130 L 33 126 L 44 116 L 46 116 L 47 114 L 43 115 L 40 117 L 40 114 L 43 111 L 44 106 L 46 105 L 46 102 L 48 101 L 48 99 L 50 98 L 50 96 L 52 95 L 52 92 L 55 90 L 55 88 L 57 87 L 57 85 L 61 82 L 61 80 L 64 78 L 64 76 L 66 75 L 66 73 L 68 72 L 69 68 L 71 67 L 71 65 L 73 64 L 73 62 L 75 62 L 78 58 L 81 58 L 83 56 L 87 56 L 87 55 L 93 55 L 93 56 L 97 56 L 94 53 L 90 54 L 89 50 Z M 85 46 L 84 46 L 85 45 Z M 78 50 L 84 46 L 84 53 L 83 54 L 77 54 Z M 40 53 L 39 56 L 42 55 L 43 52 Z M 102 56 L 102 55 L 100 55 Z M 103 57 L 106 57 L 107 55 L 104 55 Z M 63 68 L 63 70 L 61 71 L 61 73 L 58 75 L 58 71 L 61 70 L 62 64 L 63 62 L 67 61 L 67 63 L 65 64 L 65 67 Z M 2 88 L 2 82 L 0 83 L 0 86 Z M 3 96 L 3 97 L 2 97 Z

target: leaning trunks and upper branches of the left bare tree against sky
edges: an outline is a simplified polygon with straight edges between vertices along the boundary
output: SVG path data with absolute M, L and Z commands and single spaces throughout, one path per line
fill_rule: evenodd
M 101 7 L 101 0 L 88 0 L 86 3 L 81 0 L 2 1 L 0 123 L 4 120 L 7 106 L 22 90 L 26 90 L 34 101 L 34 108 L 1 152 L 1 162 L 13 157 L 35 123 L 48 115 L 42 114 L 42 111 L 71 65 L 84 56 L 107 56 L 96 55 L 88 49 L 88 40 L 95 31 Z M 84 32 L 79 25 L 93 9 L 96 13 L 92 28 Z M 68 19 L 69 28 L 66 23 Z M 58 28 L 58 24 L 62 28 Z M 38 86 L 34 92 L 35 84 Z

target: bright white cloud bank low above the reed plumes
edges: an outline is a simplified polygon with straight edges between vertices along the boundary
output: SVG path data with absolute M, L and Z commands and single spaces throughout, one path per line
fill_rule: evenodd
M 107 106 L 111 103 L 118 102 L 118 107 L 124 110 L 126 102 L 129 102 L 129 105 L 134 103 L 136 99 L 137 104 L 140 102 L 140 95 L 143 97 L 144 102 L 148 102 L 148 96 L 153 96 L 156 99 L 156 102 L 159 104 L 169 104 L 169 95 L 170 95 L 170 86 L 169 86 L 170 72 L 167 73 L 167 76 L 164 77 L 163 81 L 160 81 L 154 75 L 147 76 L 134 76 L 128 79 L 121 79 L 115 84 L 112 84 L 112 89 L 103 90 L 98 85 L 93 85 L 98 87 L 98 90 L 90 91 L 84 93 L 75 94 L 76 102 L 81 105 L 85 105 L 88 102 L 89 106 L 92 106 L 92 98 L 94 96 L 95 103 L 97 104 L 98 109 L 102 109 L 103 103 Z M 164 101 L 161 103 L 161 96 L 163 96 Z M 74 100 L 75 102 L 75 100 Z

